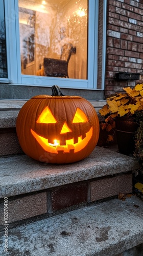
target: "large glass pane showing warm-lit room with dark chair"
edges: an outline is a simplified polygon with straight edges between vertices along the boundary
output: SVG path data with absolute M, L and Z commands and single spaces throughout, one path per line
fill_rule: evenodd
M 87 79 L 88 0 L 18 3 L 21 73 Z

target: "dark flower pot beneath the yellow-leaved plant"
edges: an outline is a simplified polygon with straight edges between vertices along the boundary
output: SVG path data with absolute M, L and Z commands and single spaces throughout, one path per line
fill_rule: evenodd
M 115 131 L 118 145 L 118 151 L 124 155 L 133 155 L 134 136 L 139 124 L 134 121 L 134 117 L 116 117 Z

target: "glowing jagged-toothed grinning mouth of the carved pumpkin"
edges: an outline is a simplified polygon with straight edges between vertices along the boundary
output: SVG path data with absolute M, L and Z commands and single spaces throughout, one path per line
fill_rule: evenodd
M 89 132 L 86 133 L 86 136 L 84 139 L 82 139 L 82 136 L 78 137 L 78 142 L 74 143 L 74 138 L 70 140 L 66 140 L 66 145 L 60 145 L 60 142 L 58 140 L 54 140 L 54 144 L 49 143 L 47 139 L 45 139 L 42 136 L 39 136 L 37 133 L 35 133 L 31 129 L 31 133 L 34 136 L 34 138 L 37 140 L 37 142 L 41 145 L 41 147 L 50 153 L 58 154 L 59 151 L 63 151 L 64 153 L 69 152 L 79 152 L 81 151 L 89 142 L 89 140 L 92 137 L 93 134 L 93 128 L 91 127 Z

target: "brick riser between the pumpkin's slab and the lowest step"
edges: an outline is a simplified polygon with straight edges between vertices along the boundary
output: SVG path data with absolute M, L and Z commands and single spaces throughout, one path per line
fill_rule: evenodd
M 117 196 L 132 193 L 132 174 L 119 174 L 77 182 L 8 198 L 8 222 L 25 220 Z M 4 225 L 4 199 L 0 202 L 0 225 Z

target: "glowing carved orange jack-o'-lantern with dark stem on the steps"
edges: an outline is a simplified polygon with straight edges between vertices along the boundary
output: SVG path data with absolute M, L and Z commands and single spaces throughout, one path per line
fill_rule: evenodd
M 38 95 L 21 108 L 16 122 L 20 146 L 28 156 L 46 163 L 71 163 L 87 157 L 99 139 L 93 106 L 79 96 Z

